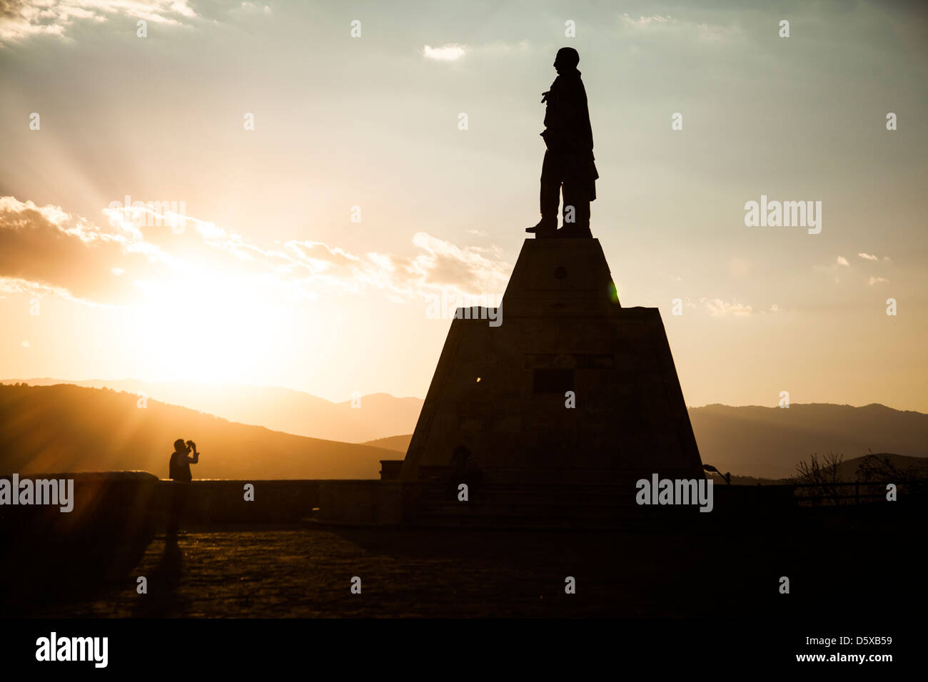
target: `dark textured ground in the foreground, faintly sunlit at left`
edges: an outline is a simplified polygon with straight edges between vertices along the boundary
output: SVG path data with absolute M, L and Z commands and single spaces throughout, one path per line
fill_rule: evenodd
M 920 522 L 822 524 L 716 532 L 190 529 L 32 604 L 59 617 L 765 617 L 853 615 L 868 604 L 924 603 L 912 542 Z M 893 547 L 887 562 L 873 547 Z M 135 568 L 127 571 L 124 566 Z M 66 564 L 51 561 L 56 576 Z M 119 566 L 123 568 L 118 568 Z M 61 569 L 65 569 L 63 572 Z M 792 592 L 780 594 L 780 576 Z M 136 578 L 148 594 L 136 593 Z M 361 594 L 352 594 L 353 576 Z M 567 576 L 576 593 L 565 593 Z M 867 576 L 869 599 L 857 599 Z M 35 595 L 19 576 L 19 593 Z M 42 578 L 43 584 L 60 577 Z M 36 581 L 33 580 L 33 583 Z M 918 589 L 914 589 L 918 587 Z M 62 596 L 63 595 L 63 596 Z

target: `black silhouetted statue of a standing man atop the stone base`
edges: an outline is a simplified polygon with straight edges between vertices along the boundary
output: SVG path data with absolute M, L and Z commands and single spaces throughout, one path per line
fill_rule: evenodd
M 536 237 L 592 237 L 589 202 L 596 199 L 599 173 L 593 162 L 593 129 L 589 123 L 586 89 L 573 47 L 561 47 L 554 58 L 558 77 L 541 101 L 548 103 L 545 131 L 548 150 L 541 166 L 541 220 L 527 227 Z M 563 186 L 563 225 L 558 230 L 558 206 Z

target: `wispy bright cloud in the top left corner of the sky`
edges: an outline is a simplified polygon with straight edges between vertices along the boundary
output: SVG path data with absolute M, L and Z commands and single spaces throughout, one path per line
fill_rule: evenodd
M 119 15 L 179 26 L 197 13 L 187 0 L 0 0 L 0 41 L 64 37 L 75 20 L 101 23 Z

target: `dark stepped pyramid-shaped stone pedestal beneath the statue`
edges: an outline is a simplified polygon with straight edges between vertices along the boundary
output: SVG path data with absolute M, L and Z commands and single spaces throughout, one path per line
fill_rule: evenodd
M 461 446 L 487 485 L 702 478 L 661 315 L 619 304 L 598 239 L 526 239 L 501 324 L 466 312 L 451 324 L 401 481 L 459 470 Z

